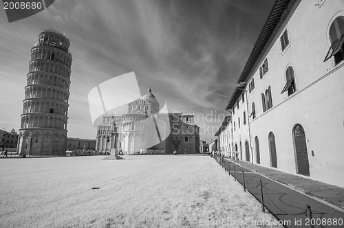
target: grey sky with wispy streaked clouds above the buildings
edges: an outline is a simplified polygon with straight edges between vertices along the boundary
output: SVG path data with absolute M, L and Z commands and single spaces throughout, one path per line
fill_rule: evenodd
M 140 93 L 194 113 L 210 142 L 275 0 L 56 0 L 20 21 L 0 8 L 0 128 L 19 130 L 30 49 L 45 29 L 71 43 L 67 137 L 95 139 L 87 96 L 135 72 Z M 138 94 L 138 98 L 139 98 Z

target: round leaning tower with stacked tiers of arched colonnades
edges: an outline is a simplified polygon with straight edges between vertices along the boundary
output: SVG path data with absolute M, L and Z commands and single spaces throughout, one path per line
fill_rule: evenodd
M 69 45 L 65 34 L 43 30 L 31 49 L 17 146 L 23 155 L 65 155 L 72 65 Z

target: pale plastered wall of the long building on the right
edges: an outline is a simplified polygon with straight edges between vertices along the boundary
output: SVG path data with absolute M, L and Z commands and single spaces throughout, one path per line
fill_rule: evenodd
M 255 154 L 257 135 L 261 166 L 270 167 L 268 133 L 272 131 L 276 139 L 278 170 L 296 174 L 292 128 L 299 123 L 307 139 L 310 179 L 344 187 L 344 61 L 336 66 L 333 58 L 323 62 L 330 48 L 329 27 L 336 16 L 344 16 L 344 1 L 327 0 L 321 8 L 314 2 L 301 1 L 290 20 L 281 25 L 255 68 L 255 89 L 248 93 L 248 106 L 255 102 L 257 115 L 255 119 L 250 118 L 252 148 Z M 290 46 L 281 52 L 279 37 L 286 28 Z M 265 58 L 268 58 L 269 70 L 260 79 L 258 67 Z M 287 92 L 281 94 L 288 66 L 294 69 L 297 87 L 290 97 Z M 263 113 L 261 93 L 268 86 L 273 107 Z M 239 138 L 240 133 L 236 132 L 234 141 Z M 241 143 L 244 150 L 242 134 Z

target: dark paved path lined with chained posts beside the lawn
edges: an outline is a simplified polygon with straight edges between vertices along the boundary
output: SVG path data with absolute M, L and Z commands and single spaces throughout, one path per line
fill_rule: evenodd
M 284 176 L 283 172 L 278 170 L 232 159 L 220 160 L 219 165 L 243 185 L 243 190 L 250 192 L 259 202 L 261 198 L 264 198 L 264 206 L 283 223 L 284 227 L 311 227 L 311 220 L 314 228 L 343 227 L 344 225 L 344 210 L 341 207 L 334 207 L 330 203 L 310 197 L 290 187 L 290 183 L 288 183 L 290 186 L 287 186 L 270 177 L 277 179 L 279 176 L 280 181 L 287 183 L 288 180 L 288 182 L 293 182 L 290 180 L 293 180 L 294 175 Z M 299 187 L 298 189 L 300 190 Z M 314 186 L 313 189 L 315 189 Z

